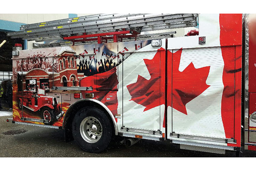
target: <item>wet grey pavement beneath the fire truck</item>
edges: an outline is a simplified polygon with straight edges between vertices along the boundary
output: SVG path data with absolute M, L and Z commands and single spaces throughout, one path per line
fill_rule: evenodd
M 225 155 L 179 149 L 179 145 L 167 142 L 141 140 L 126 148 L 112 142 L 100 154 L 82 151 L 74 141 L 64 142 L 64 132 L 59 129 L 7 123 L 11 116 L 0 117 L 0 157 L 235 157 L 227 151 Z M 2 132 L 26 129 L 26 133 L 3 135 Z M 117 141 L 118 142 L 118 141 Z M 245 157 L 256 157 L 256 152 L 245 152 Z

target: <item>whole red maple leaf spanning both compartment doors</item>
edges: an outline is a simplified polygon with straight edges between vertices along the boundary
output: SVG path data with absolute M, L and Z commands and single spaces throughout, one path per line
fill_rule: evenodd
M 169 99 L 168 106 L 187 114 L 186 104 L 199 96 L 209 85 L 206 84 L 209 75 L 210 67 L 196 69 L 191 62 L 184 71 L 179 71 L 182 49 L 175 53 L 168 51 L 168 57 L 173 58 L 172 63 L 172 91 L 171 85 L 168 85 Z M 130 92 L 131 100 L 145 106 L 144 111 L 152 109 L 160 104 L 160 98 L 164 96 L 162 88 L 160 91 L 160 54 L 156 53 L 152 60 L 144 59 L 148 72 L 151 78 L 145 79 L 138 75 L 136 83 L 127 85 Z M 170 71 L 170 70 L 169 70 Z M 171 73 L 168 73 L 168 79 L 171 79 Z M 171 93 L 172 92 L 172 93 Z M 164 104 L 164 101 L 162 101 Z

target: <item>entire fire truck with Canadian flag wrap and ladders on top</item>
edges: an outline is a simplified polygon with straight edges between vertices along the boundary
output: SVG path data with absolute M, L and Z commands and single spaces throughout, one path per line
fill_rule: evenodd
M 73 45 L 13 48 L 9 122 L 65 129 L 66 140 L 93 153 L 102 152 L 113 136 L 125 137 L 121 143 L 128 146 L 148 139 L 219 154 L 256 150 L 255 85 L 250 82 L 255 44 L 245 41 L 249 15 L 104 14 L 97 16 L 97 27 L 104 23 L 97 29 L 90 25 L 96 16 L 87 17 L 87 23 L 78 17 L 75 22 L 87 28 L 86 34 L 73 25 L 77 35 L 71 36 L 63 20 L 59 32 L 67 36 L 61 38 Z M 119 22 L 116 29 L 105 26 L 108 18 Z M 129 26 L 122 24 L 126 20 Z M 48 22 L 47 34 L 37 24 L 8 34 L 56 37 L 54 23 Z M 183 37 L 147 32 L 196 26 L 196 34 Z

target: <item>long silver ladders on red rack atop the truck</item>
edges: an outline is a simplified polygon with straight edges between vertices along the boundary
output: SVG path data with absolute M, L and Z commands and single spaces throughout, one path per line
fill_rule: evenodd
M 35 41 L 95 41 L 95 37 L 104 40 L 110 36 L 122 40 L 136 38 L 141 32 L 194 27 L 197 17 L 198 14 L 95 14 L 23 25 L 21 31 L 7 33 L 7 36 Z M 115 33 L 104 34 L 109 32 Z

